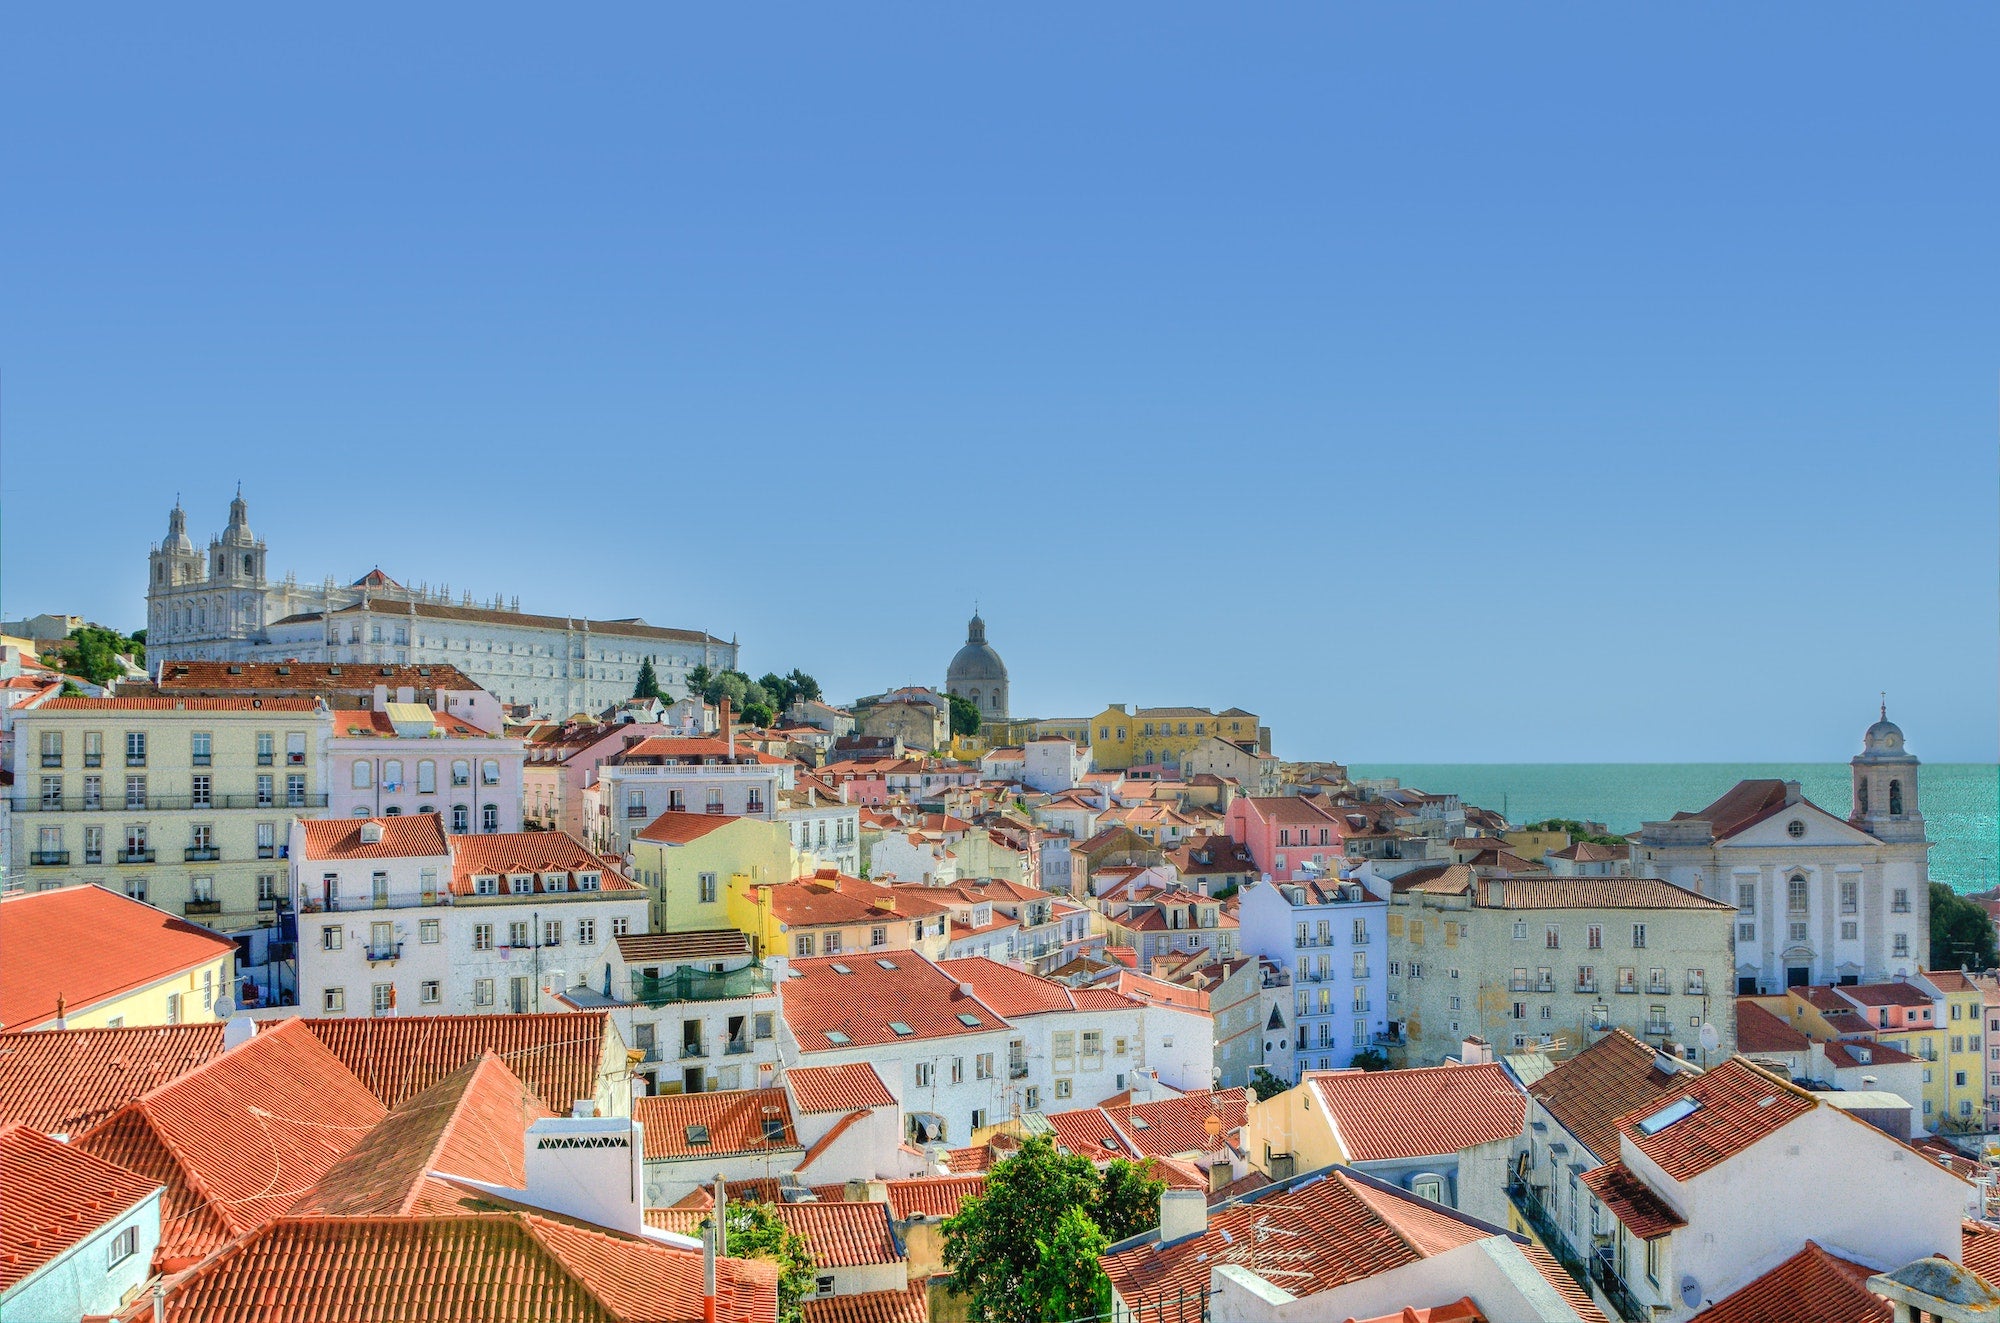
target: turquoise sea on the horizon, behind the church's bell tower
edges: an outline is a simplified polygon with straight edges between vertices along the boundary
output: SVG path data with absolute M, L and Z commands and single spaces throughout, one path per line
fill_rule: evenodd
M 1354 763 L 1352 777 L 1392 775 L 1404 785 L 1500 809 L 1508 821 L 1578 817 L 1612 831 L 1714 803 L 1746 777 L 1798 781 L 1822 809 L 1846 815 L 1846 763 Z M 2000 767 L 1924 763 L 1918 773 L 1924 825 L 1934 841 L 1932 881 L 1956 891 L 2000 883 Z

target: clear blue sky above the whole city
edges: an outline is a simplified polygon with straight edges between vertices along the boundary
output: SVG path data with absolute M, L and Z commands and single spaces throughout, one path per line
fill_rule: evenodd
M 274 570 L 1290 757 L 1996 753 L 1994 6 L 14 6 L 4 612 Z

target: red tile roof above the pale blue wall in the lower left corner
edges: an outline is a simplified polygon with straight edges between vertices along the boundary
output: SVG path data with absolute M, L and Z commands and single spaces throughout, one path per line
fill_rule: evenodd
M 26 1125 L 0 1125 L 0 1293 L 138 1207 L 158 1185 Z

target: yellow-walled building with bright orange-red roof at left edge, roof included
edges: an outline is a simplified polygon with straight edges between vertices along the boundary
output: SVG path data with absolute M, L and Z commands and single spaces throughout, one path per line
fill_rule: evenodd
M 236 943 L 106 887 L 0 897 L 0 1029 L 222 1019 Z

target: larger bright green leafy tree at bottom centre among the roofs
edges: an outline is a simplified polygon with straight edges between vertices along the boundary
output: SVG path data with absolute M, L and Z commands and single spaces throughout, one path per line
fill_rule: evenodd
M 1070 1209 L 1098 1203 L 1098 1169 L 1088 1157 L 1058 1153 L 1048 1135 L 1030 1135 L 994 1165 L 986 1189 L 944 1221 L 944 1269 L 966 1295 L 970 1317 L 986 1323 L 1044 1323 L 1026 1295 L 1042 1265 L 1042 1241 Z

